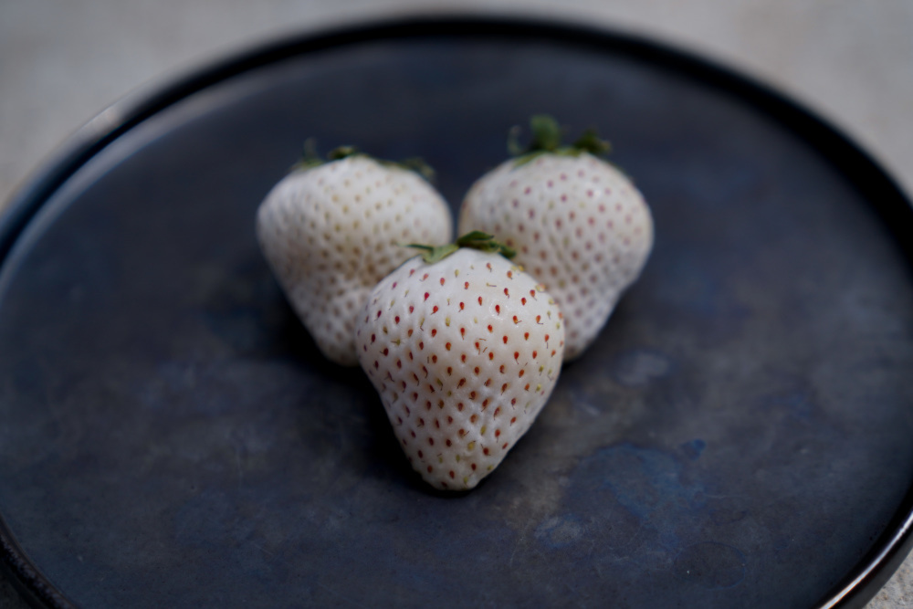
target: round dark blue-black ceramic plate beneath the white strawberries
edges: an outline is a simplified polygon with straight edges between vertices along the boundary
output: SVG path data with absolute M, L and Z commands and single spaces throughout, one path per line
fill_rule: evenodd
M 431 491 L 254 236 L 302 142 L 456 208 L 549 112 L 656 247 L 483 484 Z M 109 110 L 0 229 L 0 541 L 53 607 L 860 606 L 908 549 L 913 213 L 777 94 L 641 39 L 434 19 L 286 40 Z

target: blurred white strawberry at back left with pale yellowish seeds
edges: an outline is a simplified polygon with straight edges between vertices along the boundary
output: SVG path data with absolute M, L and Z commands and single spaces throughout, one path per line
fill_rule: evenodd
M 355 320 L 371 289 L 412 256 L 398 244 L 444 244 L 450 209 L 425 179 L 340 149 L 289 173 L 257 210 L 269 266 L 320 352 L 353 366 Z

